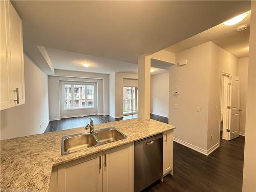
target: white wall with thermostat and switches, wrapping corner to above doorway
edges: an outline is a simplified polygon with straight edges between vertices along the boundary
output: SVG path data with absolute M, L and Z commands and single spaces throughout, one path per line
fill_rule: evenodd
M 177 141 L 208 154 L 219 143 L 221 72 L 237 76 L 238 59 L 211 41 L 177 53 L 176 61 L 181 59 L 188 64 L 170 67 L 169 123 L 177 126 Z

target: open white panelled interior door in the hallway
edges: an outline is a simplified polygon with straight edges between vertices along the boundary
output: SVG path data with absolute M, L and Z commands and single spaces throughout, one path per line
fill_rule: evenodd
M 240 125 L 240 81 L 239 77 L 231 77 L 231 97 L 230 97 L 230 130 L 228 140 L 239 137 Z

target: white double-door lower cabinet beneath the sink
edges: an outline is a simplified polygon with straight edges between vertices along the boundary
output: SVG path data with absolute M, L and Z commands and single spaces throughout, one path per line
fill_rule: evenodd
M 53 167 L 49 191 L 133 191 L 133 143 Z

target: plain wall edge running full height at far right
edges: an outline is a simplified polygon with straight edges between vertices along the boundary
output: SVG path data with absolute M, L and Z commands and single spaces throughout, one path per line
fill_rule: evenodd
M 251 1 L 250 53 L 246 99 L 243 191 L 256 191 L 256 1 Z

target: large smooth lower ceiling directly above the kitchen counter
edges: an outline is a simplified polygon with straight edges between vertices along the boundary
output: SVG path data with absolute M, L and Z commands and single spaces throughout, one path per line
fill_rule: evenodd
M 23 20 L 25 52 L 35 61 L 39 54 L 35 46 L 43 46 L 137 63 L 141 54 L 155 53 L 250 10 L 250 1 L 12 1 L 12 4 Z M 61 58 L 55 59 L 53 65 L 60 68 Z

